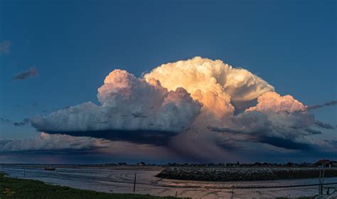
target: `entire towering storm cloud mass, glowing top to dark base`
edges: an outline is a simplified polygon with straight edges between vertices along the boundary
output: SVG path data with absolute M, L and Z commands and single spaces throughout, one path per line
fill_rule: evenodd
M 202 158 L 223 158 L 247 143 L 309 149 L 319 143 L 309 136 L 333 128 L 252 72 L 200 57 L 161 65 L 144 77 L 114 70 L 97 98 L 99 105 L 77 104 L 31 124 L 50 133 L 166 145 Z

